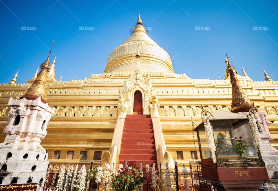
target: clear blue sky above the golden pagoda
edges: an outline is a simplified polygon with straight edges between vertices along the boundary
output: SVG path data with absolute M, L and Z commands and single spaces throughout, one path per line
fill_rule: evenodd
M 1 0 L 0 83 L 8 83 L 17 70 L 17 83 L 30 79 L 47 58 L 52 40 L 57 80 L 60 75 L 70 80 L 103 73 L 109 53 L 129 37 L 138 10 L 152 29 L 148 35 L 169 53 L 175 73 L 223 78 L 227 52 L 239 74 L 243 65 L 253 80 L 264 80 L 265 68 L 278 80 L 277 0 Z

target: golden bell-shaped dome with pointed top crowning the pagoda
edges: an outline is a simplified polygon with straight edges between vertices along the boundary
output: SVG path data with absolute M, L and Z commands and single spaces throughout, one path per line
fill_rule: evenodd
M 170 56 L 149 38 L 142 26 L 140 15 L 131 36 L 110 53 L 104 72 L 134 70 L 138 44 L 142 71 L 173 73 Z

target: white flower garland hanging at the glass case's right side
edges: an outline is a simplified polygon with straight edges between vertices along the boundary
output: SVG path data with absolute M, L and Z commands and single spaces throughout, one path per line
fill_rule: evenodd
M 261 143 L 258 126 L 256 123 L 257 120 L 255 119 L 254 114 L 247 115 L 247 117 L 249 119 L 249 124 L 250 124 L 250 128 L 251 128 L 252 136 L 253 136 L 253 145 L 255 146 L 256 151 L 259 151 L 262 148 L 262 143 Z

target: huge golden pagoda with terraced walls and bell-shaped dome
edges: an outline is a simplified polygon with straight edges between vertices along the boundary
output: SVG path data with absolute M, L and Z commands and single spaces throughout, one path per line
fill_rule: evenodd
M 135 76 L 138 49 L 141 69 Z M 106 65 L 103 63 L 105 70 L 101 74 L 91 74 L 82 80 L 49 81 L 47 78 L 53 73 L 48 71 L 48 56 L 41 71 L 28 83 L 1 83 L 0 127 L 3 130 L 6 126 L 10 97 L 23 94 L 27 99 L 41 97 L 55 108 L 41 142 L 48 160 L 89 166 L 92 160 L 100 162 L 104 151 L 110 150 L 113 155 L 113 140 L 119 136 L 115 134 L 119 115 L 125 107 L 133 112 L 134 92 L 141 91 L 142 100 L 137 102 L 142 104 L 143 114 L 151 114 L 149 108 L 157 109 L 161 145 L 166 148 L 163 152 L 179 164 L 200 160 L 199 152 L 194 154 L 191 117 L 196 123 L 201 122 L 201 104 L 212 113 L 217 109 L 228 112 L 248 109 L 254 102 L 259 112 L 265 112 L 274 137 L 271 145 L 278 148 L 278 81 L 265 81 L 263 75 L 261 81 L 253 81 L 244 71 L 243 76 L 237 74 L 227 58 L 225 63 L 224 79 L 192 79 L 175 73 L 169 54 L 148 36 L 139 16 L 132 34 L 109 54 Z M 30 72 L 30 78 L 33 74 Z M 134 88 L 133 82 L 137 83 Z M 130 92 L 124 95 L 126 89 Z M 152 105 L 147 107 L 149 103 Z M 3 142 L 4 135 L 0 139 Z

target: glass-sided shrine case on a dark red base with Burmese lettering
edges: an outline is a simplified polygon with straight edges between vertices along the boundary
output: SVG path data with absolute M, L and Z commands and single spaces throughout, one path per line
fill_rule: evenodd
M 253 144 L 248 117 L 220 110 L 211 114 L 209 123 L 213 130 L 214 162 L 205 131 L 205 113 L 209 112 L 203 112 L 203 122 L 194 129 L 197 131 L 202 177 L 217 190 L 258 190 L 261 183 L 268 179 L 268 174 L 261 153 Z

